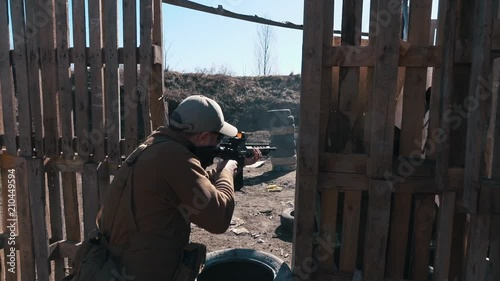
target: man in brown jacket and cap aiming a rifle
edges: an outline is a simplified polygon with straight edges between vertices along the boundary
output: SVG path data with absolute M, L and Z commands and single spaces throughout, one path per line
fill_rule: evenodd
M 107 218 L 103 231 L 125 280 L 172 280 L 189 243 L 190 223 L 217 234 L 228 229 L 237 162 L 205 168 L 221 138 L 237 133 L 214 100 L 190 96 L 172 112 L 168 128 L 147 138 L 145 144 L 154 144 L 135 160 L 133 172 L 121 175 L 127 179 L 125 191 L 111 184 L 98 221 Z M 261 155 L 255 151 L 254 156 L 256 161 Z M 116 176 L 120 172 L 125 173 L 120 169 Z M 117 205 L 116 212 L 106 208 L 110 205 Z

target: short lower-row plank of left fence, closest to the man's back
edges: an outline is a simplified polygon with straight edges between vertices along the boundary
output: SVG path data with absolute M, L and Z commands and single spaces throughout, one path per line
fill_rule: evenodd
M 83 232 L 85 235 L 96 229 L 95 218 L 99 211 L 98 164 L 87 162 L 83 165 L 82 200 L 83 200 Z

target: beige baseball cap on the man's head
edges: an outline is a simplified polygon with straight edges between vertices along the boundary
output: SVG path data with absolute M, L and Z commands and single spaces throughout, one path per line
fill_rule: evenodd
M 192 95 L 172 112 L 170 124 L 187 133 L 219 132 L 234 137 L 238 129 L 224 121 L 220 105 L 211 98 Z

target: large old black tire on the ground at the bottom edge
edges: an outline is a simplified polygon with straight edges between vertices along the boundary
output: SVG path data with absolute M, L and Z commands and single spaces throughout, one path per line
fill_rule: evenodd
M 280 258 L 253 249 L 226 249 L 207 254 L 197 281 L 290 281 L 290 267 Z

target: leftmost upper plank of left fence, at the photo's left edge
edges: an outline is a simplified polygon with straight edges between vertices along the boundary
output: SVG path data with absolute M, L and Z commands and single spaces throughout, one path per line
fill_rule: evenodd
M 9 63 L 9 38 L 10 28 L 8 21 L 7 2 L 0 4 L 0 91 L 2 92 L 2 118 L 5 132 L 4 146 L 9 154 L 17 154 L 16 136 L 17 120 L 14 97 L 14 80 L 12 67 Z

